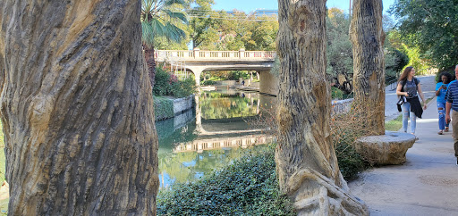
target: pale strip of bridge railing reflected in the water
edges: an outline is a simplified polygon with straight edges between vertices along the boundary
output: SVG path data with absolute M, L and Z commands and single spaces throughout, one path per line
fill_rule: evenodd
M 266 135 L 251 135 L 243 137 L 223 137 L 199 139 L 188 143 L 181 143 L 174 148 L 174 153 L 198 152 L 206 150 L 221 149 L 225 147 L 242 147 L 246 148 L 251 145 L 261 145 L 276 142 L 276 137 Z

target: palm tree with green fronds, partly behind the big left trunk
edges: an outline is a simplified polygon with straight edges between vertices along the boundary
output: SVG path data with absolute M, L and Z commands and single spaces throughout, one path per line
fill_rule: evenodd
M 186 13 L 179 11 L 185 4 L 183 0 L 141 1 L 141 42 L 152 87 L 156 76 L 155 38 L 165 37 L 171 42 L 179 43 L 186 37 L 184 30 L 179 27 L 182 23 L 188 24 Z

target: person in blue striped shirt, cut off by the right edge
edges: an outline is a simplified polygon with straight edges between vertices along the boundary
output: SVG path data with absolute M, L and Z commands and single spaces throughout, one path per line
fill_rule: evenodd
M 454 67 L 454 74 L 458 77 L 458 64 Z M 452 82 L 448 86 L 445 96 L 447 103 L 445 104 L 445 121 L 450 122 L 450 111 L 452 112 L 452 130 L 454 133 L 454 156 L 456 157 L 456 165 L 458 165 L 458 82 Z

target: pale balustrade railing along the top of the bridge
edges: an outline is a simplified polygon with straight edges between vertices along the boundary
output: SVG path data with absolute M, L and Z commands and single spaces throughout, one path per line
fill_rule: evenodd
M 171 59 L 181 61 L 274 61 L 275 51 L 207 51 L 207 50 L 156 50 L 157 62 L 166 62 Z

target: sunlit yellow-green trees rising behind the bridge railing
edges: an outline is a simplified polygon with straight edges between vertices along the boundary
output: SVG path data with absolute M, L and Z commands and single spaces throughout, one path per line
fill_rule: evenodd
M 212 0 L 197 1 L 190 8 L 189 35 L 201 50 L 276 50 L 276 15 L 216 12 Z

